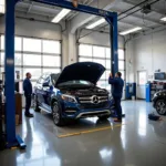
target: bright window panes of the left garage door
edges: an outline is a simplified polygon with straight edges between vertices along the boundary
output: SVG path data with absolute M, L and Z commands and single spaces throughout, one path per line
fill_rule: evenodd
M 15 37 L 14 66 L 20 72 L 20 80 L 25 73 L 32 73 L 32 84 L 48 73 L 61 72 L 61 42 Z M 0 35 L 0 72 L 4 71 L 4 35 Z M 0 75 L 1 76 L 1 75 Z

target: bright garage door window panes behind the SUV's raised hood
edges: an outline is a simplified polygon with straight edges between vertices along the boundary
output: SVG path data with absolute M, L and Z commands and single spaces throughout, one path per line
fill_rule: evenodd
M 111 85 L 107 82 L 112 68 L 110 48 L 80 44 L 79 62 L 96 62 L 105 66 L 106 71 L 101 76 L 100 81 L 97 82 L 97 85 L 108 91 L 111 90 Z M 125 79 L 125 56 L 123 49 L 118 50 L 118 69 L 120 72 L 122 72 L 122 77 Z

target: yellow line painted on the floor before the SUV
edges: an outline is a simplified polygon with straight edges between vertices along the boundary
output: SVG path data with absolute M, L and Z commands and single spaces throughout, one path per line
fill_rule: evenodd
M 126 125 L 126 124 L 117 124 L 117 125 L 114 125 L 114 126 L 106 126 L 106 127 L 101 127 L 101 128 L 95 128 L 95 129 L 81 131 L 81 132 L 77 132 L 77 133 L 62 134 L 62 135 L 58 135 L 58 137 L 59 138 L 63 138 L 63 137 L 70 137 L 70 136 L 75 136 L 75 135 L 81 135 L 81 134 L 89 134 L 89 133 L 94 133 L 94 132 L 101 132 L 101 131 L 111 129 L 112 127 L 121 127 L 123 125 Z

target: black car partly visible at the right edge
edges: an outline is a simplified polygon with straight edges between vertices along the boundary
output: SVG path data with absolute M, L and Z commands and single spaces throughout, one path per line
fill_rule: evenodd
M 153 105 L 159 115 L 166 115 L 166 90 L 155 93 Z

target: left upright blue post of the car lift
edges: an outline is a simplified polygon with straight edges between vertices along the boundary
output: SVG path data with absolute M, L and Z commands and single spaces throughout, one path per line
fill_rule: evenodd
M 14 0 L 6 0 L 6 131 L 8 146 L 15 141 L 15 101 L 14 101 Z

